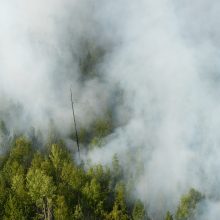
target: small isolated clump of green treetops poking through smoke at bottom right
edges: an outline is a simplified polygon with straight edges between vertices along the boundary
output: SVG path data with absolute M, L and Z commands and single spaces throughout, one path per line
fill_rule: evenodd
M 204 199 L 204 196 L 195 189 L 190 189 L 189 193 L 181 198 L 176 212 L 176 220 L 187 220 L 193 218 L 197 204 Z

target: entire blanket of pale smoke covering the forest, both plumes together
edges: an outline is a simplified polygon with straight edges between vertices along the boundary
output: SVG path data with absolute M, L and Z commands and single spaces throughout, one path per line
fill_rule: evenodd
M 174 212 L 191 187 L 214 198 L 206 208 L 216 219 L 218 18 L 219 3 L 208 0 L 2 0 L 1 115 L 23 131 L 46 130 L 53 119 L 65 134 L 70 85 L 79 103 L 86 102 L 76 112 L 84 125 L 115 103 L 117 85 L 123 103 L 114 106 L 115 117 L 123 125 L 89 156 L 109 163 L 117 153 L 134 178 L 134 196 L 156 219 Z M 79 60 L 87 41 L 107 51 L 96 67 L 102 80 L 82 82 Z

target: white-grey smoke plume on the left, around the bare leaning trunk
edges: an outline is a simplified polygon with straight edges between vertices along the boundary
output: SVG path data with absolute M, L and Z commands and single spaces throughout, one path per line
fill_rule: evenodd
M 0 103 L 2 115 L 9 112 L 3 119 L 10 127 L 46 131 L 53 120 L 66 134 L 71 126 L 70 86 L 82 125 L 105 110 L 105 83 L 80 80 L 84 44 L 101 45 L 93 45 L 98 32 L 93 8 L 87 1 L 1 1 Z

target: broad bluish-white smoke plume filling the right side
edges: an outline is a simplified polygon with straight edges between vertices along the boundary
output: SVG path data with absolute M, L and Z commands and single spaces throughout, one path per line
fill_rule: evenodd
M 100 10 L 120 42 L 103 69 L 123 88 L 131 117 L 91 157 L 108 163 L 117 152 L 156 219 L 191 187 L 219 201 L 218 4 L 121 0 Z

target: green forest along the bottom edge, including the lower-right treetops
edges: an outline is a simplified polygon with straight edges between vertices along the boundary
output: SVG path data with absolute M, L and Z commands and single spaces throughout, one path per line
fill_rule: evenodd
M 105 122 L 98 124 L 92 142 L 110 129 Z M 4 140 L 0 157 L 1 219 L 153 220 L 147 206 L 132 197 L 134 186 L 128 184 L 131 180 L 125 181 L 117 155 L 111 166 L 88 166 L 83 160 L 77 162 L 74 154 L 78 152 L 67 148 L 55 133 L 50 133 L 43 148 L 33 131 L 29 137 L 11 137 L 3 121 L 0 135 Z M 193 219 L 203 199 L 200 192 L 190 189 L 176 212 L 167 211 L 164 220 Z

